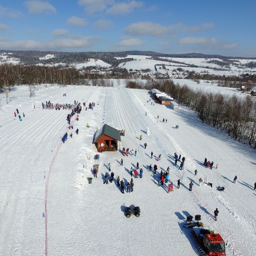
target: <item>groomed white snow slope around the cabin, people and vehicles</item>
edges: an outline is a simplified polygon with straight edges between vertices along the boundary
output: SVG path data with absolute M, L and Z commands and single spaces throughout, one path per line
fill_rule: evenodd
M 150 96 L 144 90 L 48 86 L 39 87 L 29 98 L 28 88 L 22 86 L 9 99 L 6 104 L 6 95 L 0 94 L 0 255 L 46 255 L 46 251 L 53 256 L 197 255 L 190 230 L 182 226 L 186 216 L 196 214 L 221 234 L 227 255 L 256 254 L 255 150 L 202 124 L 182 106 L 173 111 L 147 103 Z M 70 111 L 42 110 L 41 102 L 46 100 L 86 101 L 87 106 L 95 102 L 96 106 L 93 111 L 82 110 L 79 121 L 73 117 L 74 129 L 69 130 L 66 117 Z M 14 117 L 16 108 L 25 113 L 22 121 Z M 137 149 L 138 155 L 105 152 L 94 160 L 93 136 L 104 123 L 125 129 L 119 149 Z M 72 132 L 73 138 L 62 143 L 66 132 Z M 174 165 L 175 152 L 185 156 L 184 170 Z M 162 157 L 157 162 L 159 154 Z M 206 169 L 205 157 L 218 163 L 218 169 Z M 121 194 L 116 182 L 103 184 L 109 162 L 115 177 L 120 175 L 126 184 L 137 161 L 144 172 L 141 179 L 134 178 L 133 193 Z M 95 163 L 99 164 L 98 178 L 89 184 Z M 148 171 L 150 164 L 158 165 L 157 175 Z M 170 194 L 166 184 L 157 186 L 159 173 L 167 166 L 175 184 Z M 238 180 L 233 184 L 235 175 Z M 213 187 L 199 186 L 200 177 Z M 194 183 L 191 192 L 190 181 Z M 220 192 L 217 186 L 225 190 Z M 130 205 L 140 206 L 139 218 L 124 216 L 124 206 Z M 216 207 L 220 212 L 217 222 L 212 216 Z

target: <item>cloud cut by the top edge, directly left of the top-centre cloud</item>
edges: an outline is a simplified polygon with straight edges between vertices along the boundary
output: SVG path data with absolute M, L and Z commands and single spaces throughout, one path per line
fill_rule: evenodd
M 87 13 L 93 14 L 95 12 L 102 12 L 109 5 L 113 5 L 114 0 L 79 0 L 78 4 L 84 6 Z

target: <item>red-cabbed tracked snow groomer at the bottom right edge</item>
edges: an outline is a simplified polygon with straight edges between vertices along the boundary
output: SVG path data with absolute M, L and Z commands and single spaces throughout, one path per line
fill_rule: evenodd
M 198 245 L 202 256 L 226 255 L 225 241 L 220 234 L 216 234 L 214 231 L 202 227 L 195 226 L 193 229 L 194 231 L 191 231 L 191 237 Z

